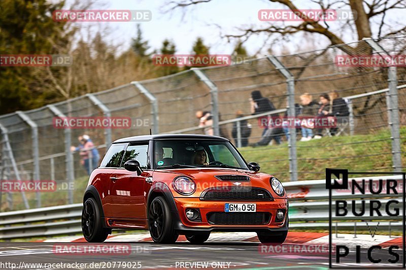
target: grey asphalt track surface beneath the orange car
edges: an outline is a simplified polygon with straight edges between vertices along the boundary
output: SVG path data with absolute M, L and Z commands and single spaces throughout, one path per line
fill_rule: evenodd
M 159 245 L 151 242 L 123 243 L 109 242 L 101 245 L 126 245 L 127 254 L 78 255 L 56 254 L 55 245 L 71 245 L 88 247 L 88 243 L 36 243 L 36 242 L 3 242 L 0 243 L 1 269 L 328 269 L 328 254 L 270 254 L 260 252 L 261 245 L 257 242 L 209 242 L 193 245 L 179 242 L 173 245 Z M 289 244 L 287 244 L 289 245 Z M 295 244 L 304 246 L 308 244 Z M 311 245 L 310 245 L 311 246 Z M 355 249 L 342 260 L 333 265 L 355 268 Z M 370 264 L 370 267 L 390 268 L 401 264 L 390 264 L 387 249 L 374 251 L 375 258 L 382 263 Z M 401 251 L 399 251 L 402 260 Z M 334 258 L 333 258 L 334 260 Z M 87 265 L 71 265 L 62 267 L 57 263 L 86 263 Z M 110 262 L 110 263 L 109 263 Z M 124 263 L 126 265 L 124 265 Z M 140 262 L 140 263 L 138 263 Z M 361 262 L 367 262 L 367 249 L 361 248 Z M 9 263 L 9 264 L 7 264 Z M 11 263 L 14 263 L 11 264 Z M 31 263 L 28 265 L 27 263 Z M 32 265 L 43 263 L 43 265 Z M 53 267 L 45 268 L 44 263 L 54 263 Z M 93 263 L 93 264 L 92 264 Z M 99 263 L 96 265 L 96 263 Z M 193 264 L 194 263 L 194 264 Z M 207 263 L 207 264 L 205 264 Z

